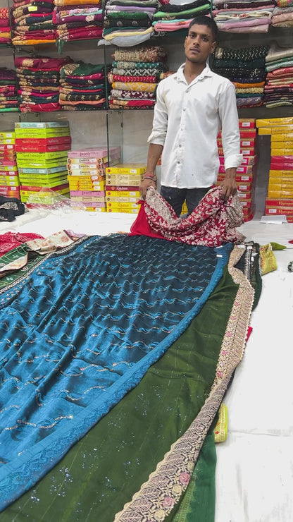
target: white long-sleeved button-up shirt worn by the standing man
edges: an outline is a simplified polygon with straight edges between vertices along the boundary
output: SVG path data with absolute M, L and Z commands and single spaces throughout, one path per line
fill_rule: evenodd
M 161 185 L 210 187 L 218 177 L 220 128 L 225 169 L 242 163 L 235 87 L 207 64 L 188 85 L 184 67 L 158 83 L 148 142 L 163 145 Z

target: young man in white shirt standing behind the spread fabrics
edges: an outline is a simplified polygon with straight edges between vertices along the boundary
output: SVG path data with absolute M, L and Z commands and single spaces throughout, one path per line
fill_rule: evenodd
M 208 16 L 198 16 L 185 38 L 185 63 L 158 84 L 146 174 L 139 187 L 142 198 L 156 187 L 156 164 L 161 158 L 161 195 L 180 216 L 186 200 L 188 214 L 218 177 L 217 135 L 222 129 L 225 179 L 221 198 L 237 192 L 236 169 L 242 163 L 235 87 L 206 63 L 216 47 L 218 28 Z

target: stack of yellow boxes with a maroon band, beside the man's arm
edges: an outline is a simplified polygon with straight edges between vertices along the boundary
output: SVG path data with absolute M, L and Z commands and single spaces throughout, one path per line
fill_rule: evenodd
M 139 185 L 145 173 L 146 165 L 142 163 L 121 163 L 106 168 L 107 212 L 139 212 Z

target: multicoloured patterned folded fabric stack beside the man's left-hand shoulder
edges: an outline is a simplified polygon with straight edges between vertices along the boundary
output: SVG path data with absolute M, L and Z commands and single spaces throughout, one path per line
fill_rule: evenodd
M 166 71 L 166 51 L 162 47 L 116 49 L 112 55 L 111 109 L 152 109 L 156 101 L 159 75 Z

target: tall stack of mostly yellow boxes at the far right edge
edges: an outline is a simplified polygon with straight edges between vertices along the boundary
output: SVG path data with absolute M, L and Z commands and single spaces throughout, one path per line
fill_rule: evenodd
M 293 221 L 293 118 L 256 120 L 258 133 L 270 135 L 270 171 L 265 215 Z

